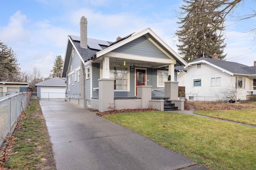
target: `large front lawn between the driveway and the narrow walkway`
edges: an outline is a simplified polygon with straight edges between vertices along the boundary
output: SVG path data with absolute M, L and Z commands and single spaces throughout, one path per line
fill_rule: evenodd
M 164 111 L 104 117 L 209 169 L 255 169 L 255 128 Z

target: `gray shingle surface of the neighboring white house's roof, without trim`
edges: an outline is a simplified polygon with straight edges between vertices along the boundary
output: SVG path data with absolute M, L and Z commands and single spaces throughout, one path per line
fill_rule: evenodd
M 236 63 L 236 62 L 209 59 L 209 58 L 204 58 L 204 57 L 201 57 L 194 61 L 201 61 L 201 60 L 208 61 L 209 63 L 219 66 L 220 68 L 228 70 L 234 74 L 247 74 L 247 75 L 256 74 L 256 66 L 246 66 L 244 64 L 240 64 L 240 63 Z

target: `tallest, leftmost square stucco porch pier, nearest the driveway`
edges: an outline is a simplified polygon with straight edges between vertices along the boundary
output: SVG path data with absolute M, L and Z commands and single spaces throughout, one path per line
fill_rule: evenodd
M 114 109 L 114 79 L 101 78 L 99 82 L 99 111 Z

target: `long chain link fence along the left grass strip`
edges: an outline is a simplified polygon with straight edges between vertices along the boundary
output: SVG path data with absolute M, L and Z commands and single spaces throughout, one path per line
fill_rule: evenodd
M 31 99 L 30 92 L 9 94 L 0 98 L 0 146 Z

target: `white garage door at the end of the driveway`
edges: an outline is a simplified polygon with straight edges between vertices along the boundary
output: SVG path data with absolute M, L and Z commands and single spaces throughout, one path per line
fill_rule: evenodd
M 66 88 L 44 88 L 41 87 L 41 99 L 64 99 Z

